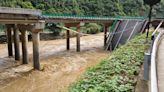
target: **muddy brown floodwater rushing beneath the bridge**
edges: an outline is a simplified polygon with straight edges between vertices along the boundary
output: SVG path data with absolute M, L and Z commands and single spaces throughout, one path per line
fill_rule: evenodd
M 0 45 L 0 92 L 67 92 L 88 67 L 109 56 L 103 50 L 103 34 L 81 37 L 81 52 L 76 52 L 76 39 L 71 38 L 71 50 L 65 50 L 66 40 L 40 42 L 41 71 L 32 70 L 32 43 L 29 42 L 30 64 L 20 65 L 7 57 L 6 44 Z

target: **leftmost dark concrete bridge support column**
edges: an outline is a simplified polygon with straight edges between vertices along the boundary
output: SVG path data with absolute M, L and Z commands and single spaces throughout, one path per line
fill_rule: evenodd
M 8 45 L 8 56 L 13 56 L 13 48 L 12 48 L 12 28 L 11 25 L 6 25 L 7 31 L 7 45 Z

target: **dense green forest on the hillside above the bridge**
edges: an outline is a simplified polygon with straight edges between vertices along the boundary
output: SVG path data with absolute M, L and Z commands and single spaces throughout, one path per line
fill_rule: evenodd
M 40 9 L 43 13 L 87 16 L 147 16 L 143 0 L 0 0 L 0 6 Z M 164 17 L 164 0 L 154 6 L 153 15 Z

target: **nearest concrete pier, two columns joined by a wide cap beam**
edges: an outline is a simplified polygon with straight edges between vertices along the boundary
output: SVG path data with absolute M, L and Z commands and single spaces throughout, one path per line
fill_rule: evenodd
M 44 22 L 38 22 L 35 24 L 20 24 L 18 25 L 21 30 L 21 39 L 22 39 L 22 54 L 23 54 L 23 64 L 27 64 L 29 61 L 27 43 L 28 36 L 27 31 L 32 33 L 32 43 L 33 43 L 33 67 L 36 70 L 40 70 L 40 55 L 39 55 L 39 41 L 40 41 L 40 32 L 44 29 Z

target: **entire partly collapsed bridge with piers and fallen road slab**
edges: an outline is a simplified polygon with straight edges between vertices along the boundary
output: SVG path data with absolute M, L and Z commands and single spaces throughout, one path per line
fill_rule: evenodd
M 154 24 L 163 19 L 153 19 Z M 104 25 L 104 47 L 106 50 L 114 50 L 119 44 L 124 44 L 136 34 L 143 32 L 147 25 L 147 19 L 142 17 L 94 17 L 94 16 L 70 16 L 56 14 L 42 14 L 40 10 L 21 9 L 21 8 L 0 8 L 0 24 L 6 25 L 8 39 L 8 56 L 15 60 L 20 60 L 20 39 L 22 42 L 22 63 L 27 64 L 28 39 L 27 31 L 32 34 L 33 42 L 33 62 L 34 69 L 40 70 L 39 57 L 39 33 L 44 30 L 45 23 L 64 23 L 68 28 L 66 31 L 66 49 L 70 49 L 70 30 L 69 27 L 77 27 L 77 51 L 80 51 L 80 27 L 82 23 L 100 23 Z M 113 29 L 109 32 L 109 26 Z M 12 41 L 14 40 L 14 53 Z

